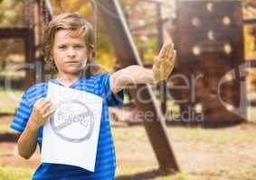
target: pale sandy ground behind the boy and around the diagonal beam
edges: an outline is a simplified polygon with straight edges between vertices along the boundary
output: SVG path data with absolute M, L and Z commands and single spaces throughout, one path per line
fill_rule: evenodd
M 1 124 L 10 123 L 11 117 L 1 118 Z M 131 127 L 138 130 L 142 135 L 131 137 L 131 139 L 120 139 L 115 137 L 116 156 L 118 173 L 120 168 L 132 168 L 133 166 L 144 166 L 146 172 L 133 170 L 133 174 L 150 172 L 157 168 L 156 157 L 147 139 L 146 132 L 142 126 Z M 175 133 L 181 127 L 168 127 L 168 130 Z M 127 127 L 113 127 L 113 132 L 126 131 Z M 229 128 L 216 129 L 214 133 L 228 131 L 231 134 L 249 133 L 255 136 L 255 124 L 241 124 Z M 146 138 L 145 138 L 145 137 Z M 142 137 L 142 138 L 141 138 Z M 176 160 L 181 170 L 189 175 L 201 177 L 203 179 L 256 179 L 256 140 L 219 143 L 214 140 L 184 139 L 170 133 L 172 147 L 175 151 Z M 33 167 L 40 163 L 40 155 L 37 152 L 29 160 L 24 160 L 17 155 L 14 143 L 0 143 L 0 166 Z M 147 167 L 147 168 L 146 168 Z M 148 169 L 148 170 L 147 170 Z M 253 174 L 253 175 L 248 175 Z M 254 176 L 255 175 L 255 176 Z M 219 178 L 218 178 L 219 177 Z M 254 178 L 255 177 L 255 178 Z M 120 178 L 121 179 L 121 178 Z

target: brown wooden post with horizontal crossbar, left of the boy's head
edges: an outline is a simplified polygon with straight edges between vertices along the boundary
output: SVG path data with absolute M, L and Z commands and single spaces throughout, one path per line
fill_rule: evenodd
M 35 9 L 37 11 L 35 11 Z M 24 0 L 24 27 L 1 28 L 0 39 L 19 38 L 24 40 L 25 63 L 25 86 L 33 85 L 43 80 L 43 65 L 40 71 L 37 64 L 42 64 L 42 33 L 45 23 L 52 17 L 52 9 L 48 0 Z M 36 72 L 42 72 L 40 78 Z M 36 79 L 38 78 L 38 79 Z

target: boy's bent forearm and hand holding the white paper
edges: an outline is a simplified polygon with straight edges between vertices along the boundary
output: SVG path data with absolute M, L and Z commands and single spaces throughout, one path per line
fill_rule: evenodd
M 26 128 L 18 139 L 18 151 L 21 157 L 30 158 L 37 145 L 38 131 L 54 112 L 52 103 L 43 98 L 33 105 L 33 112 L 26 124 Z

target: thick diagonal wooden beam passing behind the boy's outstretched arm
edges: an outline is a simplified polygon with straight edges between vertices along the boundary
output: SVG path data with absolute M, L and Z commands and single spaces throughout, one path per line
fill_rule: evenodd
M 117 0 L 97 0 L 96 4 L 99 9 L 100 18 L 106 23 L 106 28 L 109 31 L 109 36 L 121 67 L 128 67 L 133 64 L 143 66 L 141 59 L 138 57 L 119 2 Z M 135 94 L 138 89 L 142 90 L 140 93 L 142 99 L 152 99 L 152 101 L 148 103 L 138 101 Z M 137 108 L 140 112 L 144 112 L 144 114 L 146 112 L 153 112 L 153 116 L 150 119 L 146 119 L 145 116 L 142 119 L 144 119 L 144 126 L 160 167 L 169 171 L 178 171 L 179 167 L 166 134 L 164 117 L 156 104 L 156 97 L 151 86 L 137 85 L 137 89 L 133 90 L 130 94 L 136 99 Z

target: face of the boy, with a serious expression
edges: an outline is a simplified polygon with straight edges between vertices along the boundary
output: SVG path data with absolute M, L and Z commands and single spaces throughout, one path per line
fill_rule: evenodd
M 76 75 L 85 67 L 88 50 L 83 36 L 72 36 L 71 30 L 60 30 L 55 33 L 52 47 L 52 58 L 59 73 Z

